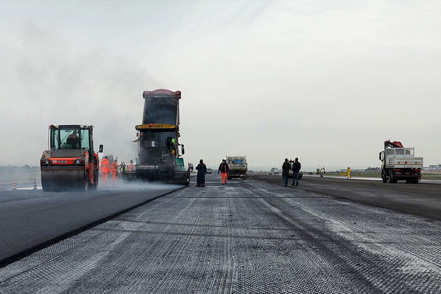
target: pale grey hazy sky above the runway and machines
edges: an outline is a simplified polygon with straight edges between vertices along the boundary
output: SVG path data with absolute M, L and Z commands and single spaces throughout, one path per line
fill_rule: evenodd
M 136 157 L 144 90 L 182 92 L 185 162 L 376 167 L 385 140 L 441 163 L 441 1 L 0 1 L 0 165 L 48 125 Z

